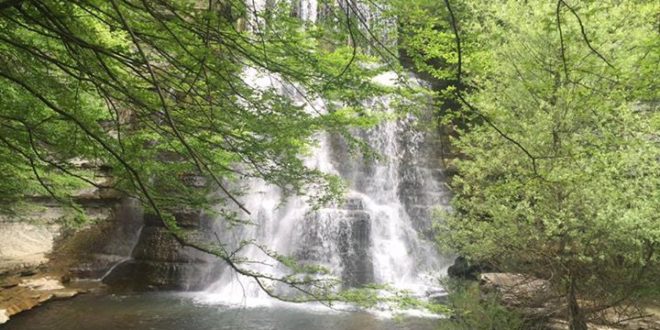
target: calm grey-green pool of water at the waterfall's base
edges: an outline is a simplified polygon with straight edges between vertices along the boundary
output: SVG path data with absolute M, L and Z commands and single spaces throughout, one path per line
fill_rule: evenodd
M 255 330 L 430 330 L 438 319 L 382 317 L 325 307 L 275 305 L 227 307 L 197 302 L 177 293 L 88 294 L 47 303 L 13 317 L 0 329 L 255 329 Z

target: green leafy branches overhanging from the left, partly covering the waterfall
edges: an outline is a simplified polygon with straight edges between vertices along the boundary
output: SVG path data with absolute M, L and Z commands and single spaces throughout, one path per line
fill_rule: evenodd
M 232 204 L 238 182 L 255 177 L 289 194 L 319 191 L 319 204 L 337 199 L 341 182 L 307 168 L 301 155 L 321 131 L 364 147 L 349 128 L 378 122 L 362 101 L 384 92 L 370 81 L 383 67 L 359 46 L 342 45 L 341 28 L 302 28 L 309 23 L 283 14 L 290 6 L 256 17 L 244 1 L 4 8 L 1 198 L 67 200 L 71 187 L 61 180 L 78 176 L 72 160 L 88 159 L 112 168 L 113 188 L 152 209 L 203 207 L 218 189 L 213 203 Z M 251 75 L 277 83 L 256 87 Z M 299 95 L 283 95 L 279 83 Z M 296 101 L 303 96 L 333 107 L 308 109 Z M 195 176 L 208 189 L 184 182 Z

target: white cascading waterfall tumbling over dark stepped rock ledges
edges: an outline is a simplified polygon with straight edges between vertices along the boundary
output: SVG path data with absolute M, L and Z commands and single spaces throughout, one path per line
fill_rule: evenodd
M 265 5 L 259 1 L 252 8 Z M 299 14 L 313 21 L 317 5 L 314 0 L 302 0 Z M 386 73 L 375 82 L 392 85 L 396 78 L 394 73 Z M 244 80 L 257 89 L 278 90 L 310 113 L 326 111 L 323 100 L 308 100 L 304 91 L 282 83 L 277 75 L 246 69 Z M 367 106 L 392 111 L 388 97 L 371 100 Z M 379 160 L 352 156 L 337 136 L 317 137 L 318 146 L 306 164 L 346 180 L 348 192 L 341 205 L 314 210 L 304 198 L 285 199 L 279 188 L 255 180 L 242 197 L 254 225 L 229 228 L 218 221 L 221 225 L 216 232 L 227 242 L 228 250 L 253 240 L 298 262 L 325 266 L 344 287 L 380 283 L 419 295 L 427 293 L 438 285 L 437 277 L 449 263 L 437 254 L 429 237 L 430 209 L 445 202 L 447 193 L 435 155 L 429 152 L 433 136 L 416 130 L 415 120 L 409 116 L 355 132 L 382 156 Z M 256 244 L 237 253 L 250 260 L 240 266 L 283 275 L 283 267 Z M 228 267 L 200 300 L 242 305 L 273 301 L 253 279 Z

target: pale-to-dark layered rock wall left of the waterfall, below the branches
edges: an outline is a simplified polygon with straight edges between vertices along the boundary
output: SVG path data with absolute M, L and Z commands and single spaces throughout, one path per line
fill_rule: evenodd
M 109 181 L 99 171 L 99 182 Z M 193 290 L 212 277 L 217 259 L 182 247 L 138 201 L 103 185 L 73 198 L 88 218 L 82 225 L 71 226 L 71 212 L 47 196 L 0 215 L 0 278 L 49 273 L 132 290 Z M 200 212 L 180 210 L 176 218 L 182 227 L 202 224 Z

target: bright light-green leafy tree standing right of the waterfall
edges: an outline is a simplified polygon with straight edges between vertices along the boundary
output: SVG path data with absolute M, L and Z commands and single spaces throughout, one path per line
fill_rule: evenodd
M 657 5 L 466 3 L 456 12 L 467 93 L 445 95 L 471 121 L 456 128 L 462 157 L 441 243 L 598 305 L 657 292 Z M 450 44 L 430 54 L 456 51 L 437 38 Z

